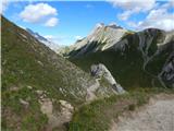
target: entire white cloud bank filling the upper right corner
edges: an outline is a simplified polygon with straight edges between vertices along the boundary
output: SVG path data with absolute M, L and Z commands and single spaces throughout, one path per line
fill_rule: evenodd
M 114 7 L 121 8 L 122 13 L 117 14 L 119 20 L 125 21 L 130 28 L 145 29 L 149 27 L 164 31 L 174 29 L 174 12 L 169 10 L 174 8 L 174 0 L 160 4 L 156 0 L 109 0 Z M 146 12 L 145 20 L 133 22 L 128 19 L 133 14 Z

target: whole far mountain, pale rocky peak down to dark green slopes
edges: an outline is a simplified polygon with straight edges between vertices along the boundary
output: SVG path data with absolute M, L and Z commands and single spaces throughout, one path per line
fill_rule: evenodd
M 91 64 L 103 63 L 123 87 L 174 87 L 174 32 L 100 24 L 64 56 L 87 72 Z

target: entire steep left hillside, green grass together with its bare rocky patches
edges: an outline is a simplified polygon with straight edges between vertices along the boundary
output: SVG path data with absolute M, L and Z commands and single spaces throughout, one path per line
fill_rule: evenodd
M 114 94 L 25 29 L 1 22 L 2 130 L 63 130 L 80 105 Z

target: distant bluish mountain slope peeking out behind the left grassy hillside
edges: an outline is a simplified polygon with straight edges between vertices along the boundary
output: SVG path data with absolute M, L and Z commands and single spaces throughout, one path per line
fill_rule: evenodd
M 39 35 L 38 33 L 35 33 L 34 31 L 26 28 L 26 31 L 34 36 L 36 39 L 38 39 L 40 43 L 48 46 L 50 49 L 58 51 L 60 46 L 58 44 L 54 44 L 53 41 L 50 41 L 49 39 L 45 38 L 44 36 Z

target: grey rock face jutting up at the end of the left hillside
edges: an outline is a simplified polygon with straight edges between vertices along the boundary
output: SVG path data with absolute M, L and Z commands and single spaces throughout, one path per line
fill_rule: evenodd
M 90 68 L 90 71 L 91 71 L 91 75 L 96 78 L 100 79 L 103 76 L 112 85 L 113 90 L 115 90 L 119 94 L 125 93 L 123 87 L 116 83 L 111 72 L 105 68 L 104 64 L 102 63 L 92 64 Z

